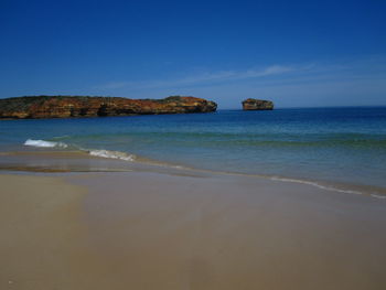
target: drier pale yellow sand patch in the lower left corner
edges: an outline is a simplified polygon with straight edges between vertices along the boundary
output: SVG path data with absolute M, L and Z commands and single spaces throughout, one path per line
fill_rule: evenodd
M 106 271 L 83 222 L 87 190 L 37 175 L 0 184 L 0 289 L 92 289 Z

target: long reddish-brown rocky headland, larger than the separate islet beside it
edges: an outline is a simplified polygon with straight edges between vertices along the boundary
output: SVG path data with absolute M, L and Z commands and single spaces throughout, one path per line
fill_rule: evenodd
M 0 118 L 40 119 L 215 111 L 217 104 L 195 97 L 164 99 L 36 96 L 0 99 Z

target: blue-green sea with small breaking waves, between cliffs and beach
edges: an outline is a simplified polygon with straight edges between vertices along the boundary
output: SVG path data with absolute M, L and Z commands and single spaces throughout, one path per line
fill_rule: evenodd
M 39 158 L 42 152 L 79 152 L 122 164 L 256 175 L 382 196 L 386 107 L 0 121 L 0 169 L 12 170 L 12 157 L 20 168 L 23 155 Z

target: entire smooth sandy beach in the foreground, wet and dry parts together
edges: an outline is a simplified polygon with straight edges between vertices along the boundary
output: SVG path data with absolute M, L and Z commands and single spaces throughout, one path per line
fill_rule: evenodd
M 0 175 L 1 289 L 385 289 L 386 201 L 154 172 Z

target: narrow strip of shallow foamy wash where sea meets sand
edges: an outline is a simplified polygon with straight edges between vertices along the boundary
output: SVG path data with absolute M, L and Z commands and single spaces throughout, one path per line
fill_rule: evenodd
M 98 151 L 97 153 L 93 153 Z M 366 195 L 379 200 L 386 198 L 386 187 L 343 183 L 323 180 L 311 180 L 296 176 L 280 176 L 242 172 L 226 172 L 206 169 L 190 168 L 180 164 L 156 161 L 138 155 L 107 150 L 44 150 L 34 151 L 3 151 L 0 174 L 12 172 L 41 173 L 92 173 L 92 172 L 160 172 L 167 174 L 217 174 L 230 176 L 249 176 L 267 179 L 283 183 L 308 184 L 336 193 Z M 100 152 L 99 152 L 100 151 Z M 112 157 L 110 157 L 110 154 Z M 8 158 L 8 160 L 6 159 Z M 6 159 L 6 161 L 4 161 Z

